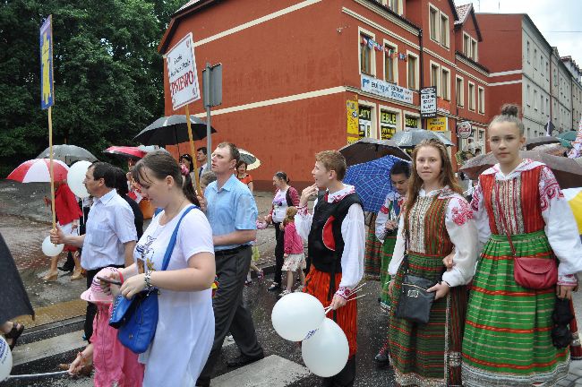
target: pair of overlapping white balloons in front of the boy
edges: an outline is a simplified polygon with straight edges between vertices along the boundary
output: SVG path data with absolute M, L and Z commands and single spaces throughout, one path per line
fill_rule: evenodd
M 320 300 L 307 293 L 291 293 L 278 300 L 271 313 L 273 328 L 285 340 L 302 341 L 307 368 L 318 376 L 338 374 L 347 363 L 346 333 L 325 317 Z

